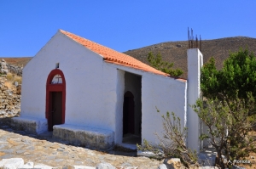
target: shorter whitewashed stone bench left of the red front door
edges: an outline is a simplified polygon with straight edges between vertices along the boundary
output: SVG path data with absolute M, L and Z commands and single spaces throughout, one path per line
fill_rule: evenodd
M 33 134 L 48 131 L 48 122 L 46 119 L 37 119 L 33 117 L 13 117 L 11 126 L 16 130 L 22 130 Z

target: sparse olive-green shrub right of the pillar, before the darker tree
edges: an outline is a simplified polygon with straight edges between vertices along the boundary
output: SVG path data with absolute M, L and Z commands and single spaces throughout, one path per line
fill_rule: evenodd
M 201 139 L 209 142 L 218 153 L 217 164 L 224 168 L 222 155 L 228 161 L 242 160 L 250 152 L 256 153 L 256 140 L 250 136 L 254 122 L 248 117 L 255 110 L 255 99 L 252 93 L 247 93 L 246 99 L 220 96 L 222 99 L 198 99 L 193 110 L 207 126 L 207 133 L 201 134 Z

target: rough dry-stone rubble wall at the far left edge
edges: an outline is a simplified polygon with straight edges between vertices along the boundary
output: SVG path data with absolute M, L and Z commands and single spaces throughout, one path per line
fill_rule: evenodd
M 0 77 L 0 117 L 10 117 L 20 113 L 21 95 L 5 86 L 6 81 L 5 77 Z

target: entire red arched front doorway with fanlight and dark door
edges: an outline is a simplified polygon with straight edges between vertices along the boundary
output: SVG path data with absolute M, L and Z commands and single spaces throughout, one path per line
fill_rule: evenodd
M 61 70 L 51 70 L 46 82 L 46 111 L 48 130 L 65 123 L 66 81 Z

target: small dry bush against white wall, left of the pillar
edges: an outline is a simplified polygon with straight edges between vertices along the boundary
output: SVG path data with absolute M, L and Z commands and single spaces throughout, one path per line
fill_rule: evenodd
M 159 110 L 157 111 L 160 112 Z M 157 160 L 175 157 L 180 158 L 184 166 L 198 166 L 196 151 L 186 146 L 188 128 L 181 127 L 180 118 L 173 112 L 172 115 L 169 112 L 166 115 L 162 115 L 162 121 L 164 128 L 163 137 L 155 133 L 160 140 L 160 144 L 149 144 L 144 139 L 143 145 L 137 145 L 137 149 L 153 152 L 153 158 Z

